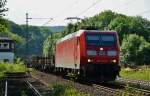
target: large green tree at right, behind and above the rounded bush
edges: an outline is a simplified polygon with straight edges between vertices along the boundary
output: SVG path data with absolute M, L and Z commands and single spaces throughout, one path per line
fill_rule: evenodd
M 119 33 L 120 41 L 129 34 L 137 34 L 148 40 L 149 31 L 144 28 L 144 22 L 148 24 L 148 21 L 146 22 L 145 19 L 139 17 L 117 16 L 110 22 L 109 28 Z

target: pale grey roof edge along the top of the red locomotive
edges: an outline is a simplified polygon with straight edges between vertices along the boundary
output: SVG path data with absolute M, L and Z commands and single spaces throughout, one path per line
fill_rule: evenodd
M 63 37 L 63 38 L 61 38 L 61 39 L 59 39 L 56 43 L 58 44 L 58 43 L 60 43 L 60 42 L 63 42 L 63 41 L 65 41 L 65 40 L 68 40 L 68 39 L 70 39 L 70 38 L 72 38 L 72 37 L 79 37 L 82 33 L 84 33 L 84 32 L 115 32 L 116 33 L 116 31 L 113 31 L 113 30 L 106 30 L 106 31 L 100 31 L 100 30 L 79 30 L 79 31 L 77 31 L 77 32 L 74 32 L 74 33 L 71 33 L 71 34 L 68 34 L 68 35 L 66 35 L 65 37 Z

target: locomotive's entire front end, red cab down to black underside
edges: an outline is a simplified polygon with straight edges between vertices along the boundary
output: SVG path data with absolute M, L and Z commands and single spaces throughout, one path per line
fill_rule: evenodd
M 84 74 L 92 81 L 111 81 L 119 75 L 119 42 L 117 32 L 85 31 Z

